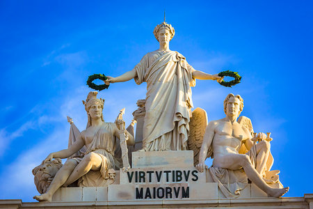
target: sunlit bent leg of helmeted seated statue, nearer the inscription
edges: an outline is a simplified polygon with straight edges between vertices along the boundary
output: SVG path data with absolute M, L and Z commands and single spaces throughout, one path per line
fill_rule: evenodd
M 69 178 L 67 178 L 64 186 L 70 185 L 75 180 L 81 178 L 81 176 L 88 173 L 88 171 L 93 170 L 97 171 L 101 168 L 102 157 L 100 157 L 96 153 L 88 153 L 85 155 L 81 162 L 75 167 L 74 171 L 70 174 Z

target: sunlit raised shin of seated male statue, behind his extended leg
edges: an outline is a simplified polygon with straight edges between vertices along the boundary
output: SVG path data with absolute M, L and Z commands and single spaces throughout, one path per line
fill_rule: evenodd
M 259 144 L 256 144 L 255 146 L 257 148 L 256 169 L 257 172 L 259 172 L 262 176 L 266 168 L 266 162 L 268 159 L 268 153 L 271 149 L 271 145 L 268 143 L 268 141 L 260 141 Z

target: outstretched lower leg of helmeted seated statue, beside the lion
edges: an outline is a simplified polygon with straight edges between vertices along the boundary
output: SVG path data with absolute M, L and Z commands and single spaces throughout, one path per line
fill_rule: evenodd
M 56 173 L 56 176 L 54 176 L 54 179 L 52 180 L 49 188 L 47 189 L 47 192 L 45 194 L 36 195 L 33 198 L 38 201 L 51 201 L 52 196 L 54 195 L 54 192 L 58 188 L 60 188 L 67 178 L 70 176 L 74 168 L 77 166 L 77 161 L 70 159 L 63 164 L 60 170 Z

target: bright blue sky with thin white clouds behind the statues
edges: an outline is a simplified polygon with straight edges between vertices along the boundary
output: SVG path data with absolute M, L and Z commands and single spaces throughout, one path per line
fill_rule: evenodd
M 164 9 L 176 31 L 170 49 L 197 70 L 243 77 L 233 88 L 197 81 L 195 107 L 223 118 L 225 96 L 240 94 L 241 115 L 272 132 L 285 196 L 313 193 L 312 1 L 0 1 L 0 199 L 33 201 L 31 169 L 67 147 L 66 116 L 86 127 L 88 76 L 121 75 L 157 49 Z M 101 91 L 104 120 L 126 107 L 130 123 L 145 88 L 132 80 Z

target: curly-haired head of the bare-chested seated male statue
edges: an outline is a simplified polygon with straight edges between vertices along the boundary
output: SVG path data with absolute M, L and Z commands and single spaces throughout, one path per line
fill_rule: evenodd
M 227 116 L 238 117 L 243 110 L 243 98 L 230 93 L 224 100 L 224 112 Z

